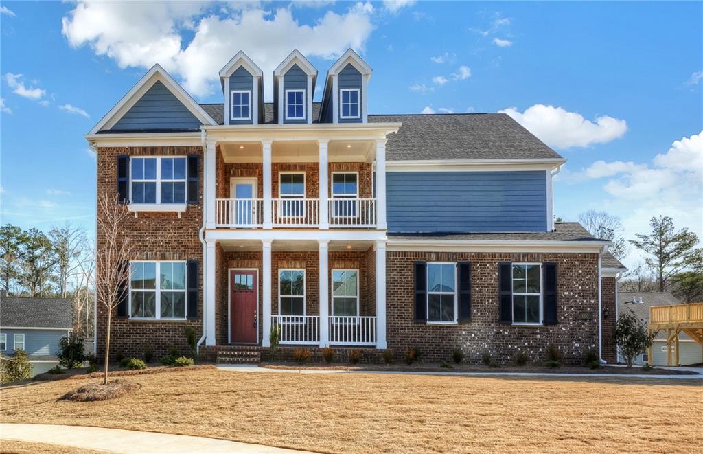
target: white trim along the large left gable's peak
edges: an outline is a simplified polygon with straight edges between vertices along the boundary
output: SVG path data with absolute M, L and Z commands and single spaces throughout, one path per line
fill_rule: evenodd
M 202 124 L 215 126 L 217 122 L 212 119 L 207 112 L 200 107 L 198 103 L 188 94 L 171 75 L 158 63 L 153 65 L 150 70 L 134 86 L 122 96 L 115 106 L 103 116 L 98 124 L 91 129 L 88 135 L 97 134 L 103 129 L 110 129 L 120 121 L 132 106 L 141 99 L 156 82 L 161 82 L 164 86 L 173 93 L 181 103 L 186 106 L 195 118 L 199 119 Z

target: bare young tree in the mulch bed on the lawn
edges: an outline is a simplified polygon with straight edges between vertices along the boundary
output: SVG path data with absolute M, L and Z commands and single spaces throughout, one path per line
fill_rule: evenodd
M 129 216 L 127 207 L 117 197 L 103 193 L 98 197 L 98 247 L 97 273 L 95 279 L 98 303 L 107 311 L 105 330 L 105 377 L 108 384 L 108 362 L 110 359 L 110 325 L 112 311 L 117 308 L 130 278 L 129 261 L 133 259 L 132 242 L 122 229 L 122 221 Z

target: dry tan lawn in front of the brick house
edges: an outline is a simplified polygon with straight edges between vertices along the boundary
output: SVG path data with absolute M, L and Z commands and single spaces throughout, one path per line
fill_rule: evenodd
M 59 400 L 85 382 L 0 390 L 1 422 L 212 436 L 329 452 L 703 452 L 692 382 L 182 370 L 126 377 L 114 401 Z

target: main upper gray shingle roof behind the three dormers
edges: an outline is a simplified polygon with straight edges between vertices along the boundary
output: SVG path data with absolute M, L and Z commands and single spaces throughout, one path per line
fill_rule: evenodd
M 200 106 L 223 124 L 222 104 Z M 320 103 L 313 103 L 313 122 L 318 122 L 318 115 Z M 265 103 L 264 123 L 275 122 L 273 103 Z M 561 158 L 514 119 L 500 113 L 369 115 L 368 122 L 403 124 L 386 143 L 389 161 Z

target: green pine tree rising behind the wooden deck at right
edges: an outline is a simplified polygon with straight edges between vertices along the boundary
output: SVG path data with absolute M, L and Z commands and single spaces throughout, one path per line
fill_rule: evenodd
M 695 249 L 698 237 L 688 228 L 675 231 L 669 216 L 652 217 L 650 226 L 649 235 L 638 233 L 639 240 L 631 243 L 647 254 L 645 261 L 654 272 L 659 292 L 664 292 L 673 275 L 701 262 L 703 249 Z

